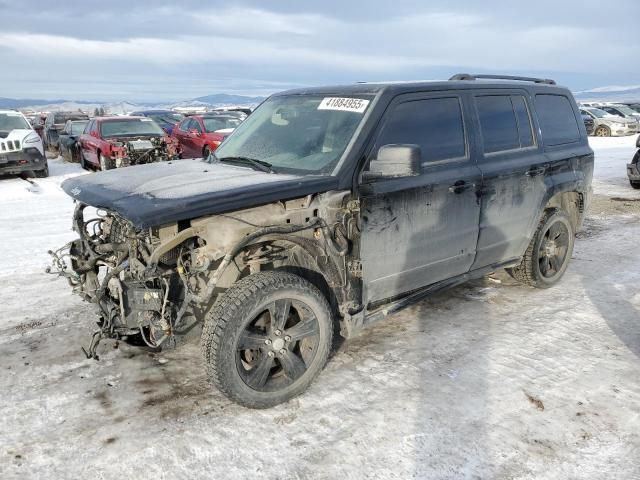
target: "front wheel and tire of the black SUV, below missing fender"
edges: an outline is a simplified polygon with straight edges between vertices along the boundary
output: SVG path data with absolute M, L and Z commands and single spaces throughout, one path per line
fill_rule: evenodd
M 286 272 L 250 275 L 205 317 L 207 376 L 225 396 L 268 408 L 300 395 L 324 367 L 333 338 L 327 299 Z

